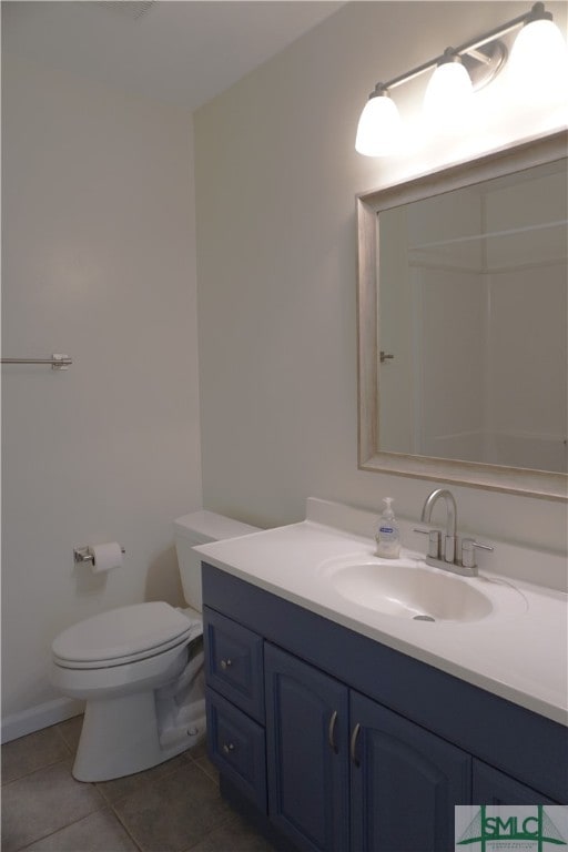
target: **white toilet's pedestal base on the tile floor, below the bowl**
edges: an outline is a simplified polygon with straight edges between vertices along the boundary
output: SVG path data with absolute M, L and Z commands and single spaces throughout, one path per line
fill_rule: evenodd
M 110 781 L 163 763 L 196 744 L 205 733 L 197 719 L 190 733 L 160 744 L 152 689 L 87 701 L 72 773 L 78 781 Z

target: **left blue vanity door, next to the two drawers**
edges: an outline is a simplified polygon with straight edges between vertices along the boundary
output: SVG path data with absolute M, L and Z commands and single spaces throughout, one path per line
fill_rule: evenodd
M 347 688 L 264 646 L 268 812 L 298 850 L 348 849 Z

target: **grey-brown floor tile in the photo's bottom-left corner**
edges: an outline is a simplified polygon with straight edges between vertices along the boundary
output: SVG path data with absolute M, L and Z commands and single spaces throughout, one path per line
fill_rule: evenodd
M 93 784 L 71 777 L 71 761 L 2 785 L 2 852 L 14 852 L 103 808 Z

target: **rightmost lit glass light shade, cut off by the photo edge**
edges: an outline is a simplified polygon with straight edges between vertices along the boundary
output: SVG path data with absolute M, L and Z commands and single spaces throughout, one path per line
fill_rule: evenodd
M 508 65 L 519 98 L 566 98 L 568 47 L 552 21 L 540 19 L 525 24 L 515 39 Z

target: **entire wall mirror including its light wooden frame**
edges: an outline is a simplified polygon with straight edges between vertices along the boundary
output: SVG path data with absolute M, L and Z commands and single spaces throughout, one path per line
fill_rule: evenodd
M 358 196 L 362 469 L 567 499 L 566 153 Z

